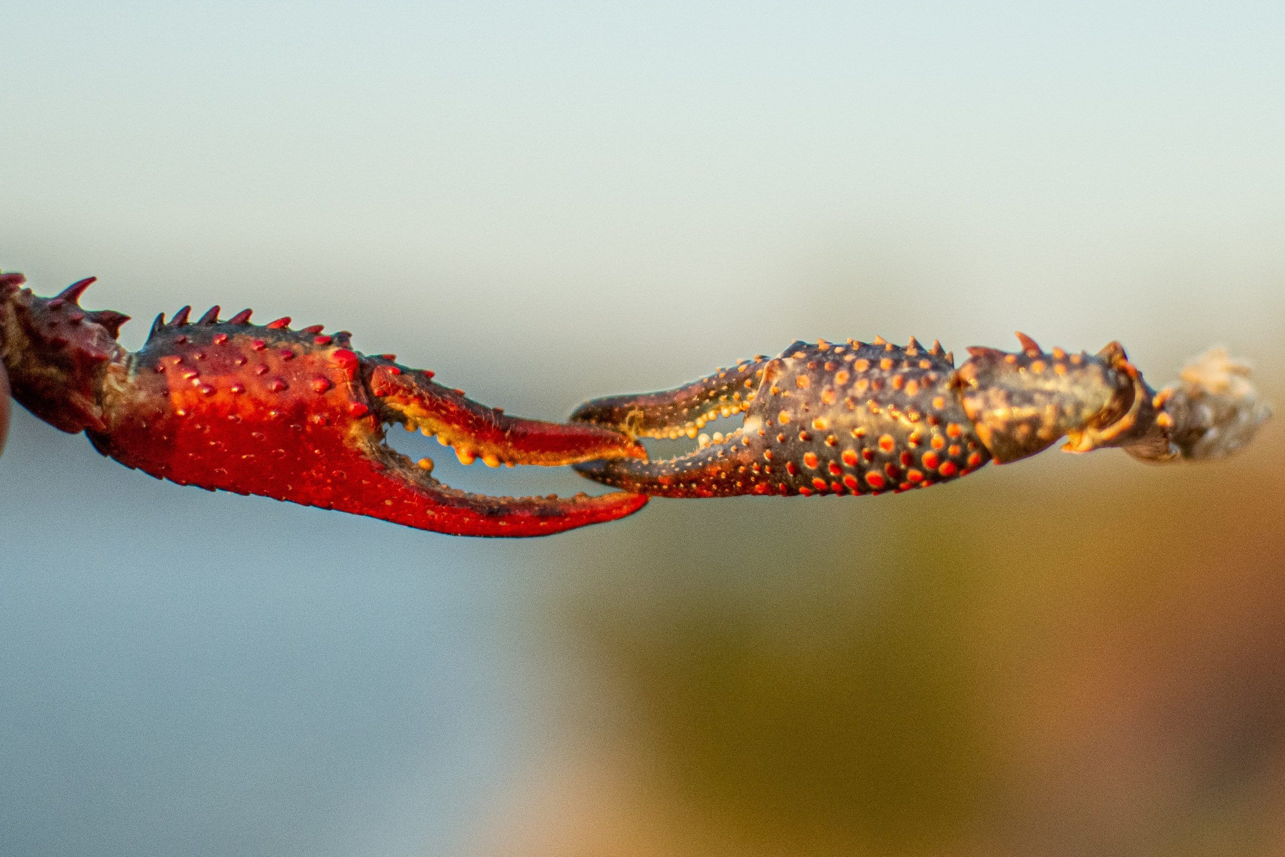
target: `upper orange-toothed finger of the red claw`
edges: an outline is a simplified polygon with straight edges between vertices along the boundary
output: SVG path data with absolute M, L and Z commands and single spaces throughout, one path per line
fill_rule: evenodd
M 490 466 L 558 466 L 592 459 L 646 457 L 632 438 L 610 428 L 546 423 L 509 416 L 463 392 L 432 380 L 432 373 L 368 358 L 370 392 L 389 421 L 400 421 L 452 446 L 460 461 L 482 459 Z

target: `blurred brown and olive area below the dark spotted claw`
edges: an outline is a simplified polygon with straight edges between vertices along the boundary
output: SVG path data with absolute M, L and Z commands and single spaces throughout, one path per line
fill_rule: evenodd
M 1279 382 L 1226 461 L 1050 452 L 577 542 L 554 618 L 596 686 L 479 852 L 1285 853 Z

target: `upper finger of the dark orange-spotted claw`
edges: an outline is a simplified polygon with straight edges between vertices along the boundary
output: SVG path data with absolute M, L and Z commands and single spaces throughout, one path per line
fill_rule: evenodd
M 571 420 L 607 425 L 634 437 L 696 437 L 720 416 L 749 410 L 768 373 L 766 357 L 736 364 L 676 389 L 641 396 L 609 396 L 577 407 Z

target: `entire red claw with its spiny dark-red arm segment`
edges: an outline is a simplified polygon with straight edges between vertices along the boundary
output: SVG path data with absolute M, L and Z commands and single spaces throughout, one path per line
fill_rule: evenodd
M 14 397 L 121 464 L 179 484 L 253 493 L 468 536 L 542 536 L 640 509 L 646 497 L 488 497 L 450 488 L 384 443 L 401 423 L 465 463 L 563 465 L 645 456 L 590 425 L 508 416 L 407 369 L 353 351 L 346 331 L 249 324 L 218 307 L 159 316 L 144 347 L 116 343 L 118 314 L 85 312 L 87 281 L 53 299 L 0 280 L 0 331 Z

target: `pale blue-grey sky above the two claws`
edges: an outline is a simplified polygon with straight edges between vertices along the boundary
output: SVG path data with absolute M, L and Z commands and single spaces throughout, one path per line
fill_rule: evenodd
M 795 337 L 1177 355 L 1282 322 L 1279 4 L 4 21 L 3 263 L 139 315 L 265 294 L 373 351 L 586 338 L 686 374 Z

